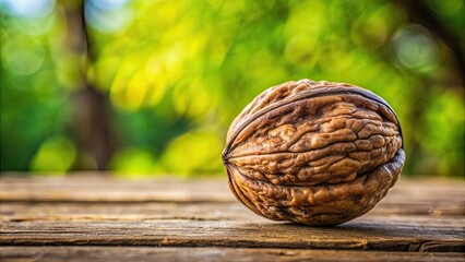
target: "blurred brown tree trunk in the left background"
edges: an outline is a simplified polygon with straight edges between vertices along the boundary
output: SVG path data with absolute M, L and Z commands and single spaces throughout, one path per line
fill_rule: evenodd
M 74 169 L 106 169 L 115 152 L 115 135 L 110 128 L 110 107 L 107 97 L 98 92 L 86 78 L 88 64 L 95 60 L 95 53 L 88 39 L 85 24 L 85 0 L 78 4 L 63 3 L 67 13 L 67 44 L 70 51 L 83 61 L 82 86 L 72 96 L 74 117 L 71 133 L 76 136 L 80 155 Z M 95 164 L 88 163 L 83 154 L 91 154 Z

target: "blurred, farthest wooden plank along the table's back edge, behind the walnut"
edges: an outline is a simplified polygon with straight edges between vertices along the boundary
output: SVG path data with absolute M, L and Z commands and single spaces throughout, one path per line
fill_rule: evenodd
M 392 203 L 463 205 L 463 181 L 401 179 Z M 108 176 L 12 177 L 0 179 L 0 199 L 12 202 L 235 202 L 225 177 L 121 180 Z

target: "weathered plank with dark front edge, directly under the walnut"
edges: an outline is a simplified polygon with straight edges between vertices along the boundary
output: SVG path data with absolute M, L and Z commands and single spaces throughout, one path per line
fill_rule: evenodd
M 461 218 L 359 218 L 335 228 L 267 221 L 3 222 L 0 245 L 465 251 Z

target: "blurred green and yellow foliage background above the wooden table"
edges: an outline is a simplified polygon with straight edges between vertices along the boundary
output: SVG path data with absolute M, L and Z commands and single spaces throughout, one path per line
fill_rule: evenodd
M 224 174 L 241 109 L 312 79 L 391 104 L 404 176 L 461 177 L 464 13 L 462 0 L 0 0 L 1 170 Z

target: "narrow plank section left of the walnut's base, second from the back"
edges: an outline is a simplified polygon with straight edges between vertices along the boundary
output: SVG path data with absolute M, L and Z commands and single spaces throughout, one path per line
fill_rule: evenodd
M 25 221 L 257 221 L 240 203 L 2 203 L 3 222 Z

